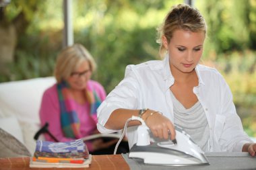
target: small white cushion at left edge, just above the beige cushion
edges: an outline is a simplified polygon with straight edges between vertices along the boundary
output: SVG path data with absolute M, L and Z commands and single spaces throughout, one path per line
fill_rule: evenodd
M 24 144 L 22 129 L 20 128 L 18 119 L 15 116 L 0 118 L 0 128 L 5 130 Z

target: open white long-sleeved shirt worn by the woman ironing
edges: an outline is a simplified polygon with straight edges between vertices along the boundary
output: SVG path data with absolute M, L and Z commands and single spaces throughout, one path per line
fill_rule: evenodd
M 193 93 L 203 106 L 209 124 L 209 151 L 242 151 L 243 144 L 252 140 L 243 131 L 226 81 L 216 69 L 210 67 L 197 65 L 195 71 L 199 85 L 193 88 Z M 128 65 L 123 81 L 98 108 L 98 130 L 102 133 L 117 131 L 104 128 L 104 124 L 118 108 L 158 110 L 173 122 L 169 89 L 173 83 L 167 56 L 164 60 Z M 130 148 L 137 142 L 136 129 L 137 126 L 133 126 L 127 130 Z

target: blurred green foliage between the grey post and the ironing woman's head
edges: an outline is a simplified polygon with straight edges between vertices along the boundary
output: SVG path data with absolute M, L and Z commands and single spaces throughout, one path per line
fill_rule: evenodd
M 94 79 L 107 93 L 123 79 L 127 65 L 158 58 L 156 27 L 170 4 L 166 7 L 164 3 L 156 5 L 158 1 L 143 1 L 142 5 L 136 1 L 141 4 L 137 7 L 129 1 L 78 3 L 81 1 L 77 1 L 75 10 L 79 21 L 74 23 L 75 42 L 84 44 L 96 58 L 99 67 Z M 86 13 L 82 10 L 79 14 L 81 8 Z

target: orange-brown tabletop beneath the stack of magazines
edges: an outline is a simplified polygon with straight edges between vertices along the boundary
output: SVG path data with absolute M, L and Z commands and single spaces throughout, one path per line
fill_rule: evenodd
M 0 169 L 4 170 L 74 170 L 74 168 L 30 168 L 30 157 L 13 157 L 13 158 L 0 158 Z M 75 170 L 88 169 L 88 170 L 114 170 L 114 169 L 129 169 L 129 165 L 125 162 L 122 155 L 93 155 L 92 163 L 88 168 L 75 168 Z

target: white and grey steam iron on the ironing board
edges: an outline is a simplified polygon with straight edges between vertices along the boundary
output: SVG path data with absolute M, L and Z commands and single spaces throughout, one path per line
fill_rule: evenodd
M 149 128 L 145 122 L 141 122 L 137 129 L 137 143 L 131 147 L 129 158 L 143 159 L 143 163 L 149 165 L 210 165 L 189 134 L 178 126 L 175 126 L 175 130 L 177 144 L 172 140 L 150 143 Z

